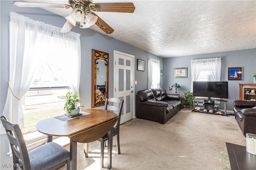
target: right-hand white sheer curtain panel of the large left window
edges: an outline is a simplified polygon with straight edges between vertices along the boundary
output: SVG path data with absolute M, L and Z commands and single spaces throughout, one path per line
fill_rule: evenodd
M 72 71 L 67 70 L 66 72 L 66 75 L 68 75 L 68 82 L 70 87 L 73 91 L 77 90 L 79 92 L 81 74 L 80 34 L 74 32 L 63 34 L 59 31 L 53 30 L 52 35 L 54 37 L 54 41 L 61 44 L 62 53 L 65 53 L 65 60 L 67 61 L 66 68 L 70 68 L 70 66 L 72 66 Z M 64 57 L 64 55 L 62 56 Z

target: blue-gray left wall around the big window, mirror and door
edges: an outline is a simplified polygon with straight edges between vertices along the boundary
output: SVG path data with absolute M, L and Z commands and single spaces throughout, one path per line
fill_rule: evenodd
M 0 113 L 2 115 L 4 104 L 7 96 L 9 80 L 9 15 L 10 12 L 16 12 L 33 20 L 39 20 L 54 26 L 62 27 L 66 22 L 65 18 L 52 14 L 41 8 L 21 8 L 13 5 L 11 0 L 0 0 Z M 131 14 L 132 15 L 132 14 Z M 110 25 L 111 26 L 111 25 Z M 113 28 L 115 29 L 115 28 Z M 92 29 L 80 29 L 78 25 L 72 31 L 80 33 L 82 67 L 80 78 L 80 97 L 85 105 L 85 108 L 91 107 L 91 50 L 96 49 L 109 53 L 109 96 L 113 97 L 113 51 L 121 51 L 135 56 L 135 78 L 138 84 L 135 85 L 135 94 L 138 90 L 147 88 L 147 67 L 145 71 L 137 71 L 137 59 L 146 61 L 149 57 L 160 60 L 160 66 L 163 66 L 163 59 L 150 54 L 146 51 L 128 45 L 102 33 L 98 33 Z M 162 78 L 161 78 L 162 80 Z M 161 83 L 162 85 L 162 83 Z M 12 162 L 6 153 L 8 152 L 8 139 L 6 135 L 1 135 L 1 155 L 0 163 Z M 2 167 L 0 167 L 2 169 Z

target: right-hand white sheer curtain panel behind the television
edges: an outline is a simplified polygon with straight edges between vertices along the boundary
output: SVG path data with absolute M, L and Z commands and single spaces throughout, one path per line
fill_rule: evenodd
M 206 68 L 208 68 L 208 71 L 210 75 L 212 76 L 212 79 L 215 82 L 220 81 L 220 75 L 221 75 L 221 58 L 212 58 L 212 59 L 206 59 Z

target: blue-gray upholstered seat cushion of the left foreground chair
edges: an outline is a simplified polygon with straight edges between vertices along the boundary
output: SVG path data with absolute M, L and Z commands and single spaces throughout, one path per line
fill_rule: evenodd
M 28 152 L 31 170 L 47 170 L 70 158 L 70 152 L 57 143 L 46 143 Z

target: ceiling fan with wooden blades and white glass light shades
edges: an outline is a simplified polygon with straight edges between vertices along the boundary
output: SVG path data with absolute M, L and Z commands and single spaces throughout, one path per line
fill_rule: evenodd
M 69 0 L 68 4 L 50 4 L 37 2 L 14 2 L 18 7 L 40 7 L 40 8 L 65 8 L 72 9 L 72 12 L 66 18 L 66 23 L 61 32 L 69 32 L 76 22 L 80 23 L 80 28 L 88 28 L 97 25 L 106 34 L 114 32 L 105 21 L 103 21 L 94 12 L 128 12 L 133 13 L 135 6 L 132 2 L 113 2 L 113 3 L 92 3 L 92 0 Z

